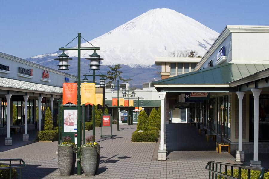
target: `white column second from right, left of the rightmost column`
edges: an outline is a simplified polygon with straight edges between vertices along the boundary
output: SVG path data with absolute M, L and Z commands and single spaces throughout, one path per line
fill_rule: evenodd
M 242 101 L 244 97 L 244 92 L 237 91 L 236 92 L 239 100 L 238 107 L 238 150 L 242 151 Z

